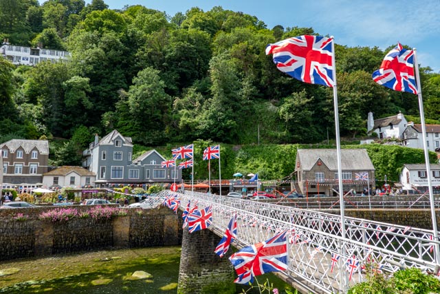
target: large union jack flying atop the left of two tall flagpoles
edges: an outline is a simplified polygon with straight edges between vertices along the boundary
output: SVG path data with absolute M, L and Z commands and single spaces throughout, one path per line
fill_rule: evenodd
M 333 87 L 333 39 L 296 36 L 266 47 L 278 70 L 310 84 Z

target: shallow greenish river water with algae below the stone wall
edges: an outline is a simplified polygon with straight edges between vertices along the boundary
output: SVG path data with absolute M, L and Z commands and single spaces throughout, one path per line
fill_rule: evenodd
M 179 246 L 168 246 L 3 261 L 0 293 L 177 293 L 180 251 Z M 151 276 L 137 278 L 133 276 L 135 271 Z M 259 278 L 262 284 L 267 279 L 279 293 L 291 289 L 274 275 Z M 260 293 L 249 286 L 237 286 L 236 293 L 243 289 Z

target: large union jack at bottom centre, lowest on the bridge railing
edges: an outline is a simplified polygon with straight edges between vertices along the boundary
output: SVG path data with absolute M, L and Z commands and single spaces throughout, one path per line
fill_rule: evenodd
M 253 282 L 254 277 L 271 271 L 287 269 L 287 231 L 251 246 L 246 246 L 229 258 L 239 277 L 235 283 Z

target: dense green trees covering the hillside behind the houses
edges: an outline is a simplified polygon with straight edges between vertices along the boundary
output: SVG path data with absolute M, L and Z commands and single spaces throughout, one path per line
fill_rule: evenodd
M 175 16 L 144 6 L 107 8 L 103 0 L 0 1 L 1 39 L 72 53 L 68 63 L 35 67 L 0 59 L 2 142 L 50 138 L 53 164 L 79 165 L 94 134 L 113 129 L 145 147 L 213 141 L 243 145 L 237 154 L 222 154 L 228 173 L 243 169 L 283 178 L 293 163 L 278 162 L 296 144 L 335 137 L 332 89 L 289 78 L 265 55 L 268 43 L 318 34 L 313 28 L 292 23 L 270 29 L 252 15 L 221 7 Z M 417 122 L 417 96 L 371 79 L 388 49 L 336 44 L 342 137 L 364 136 L 368 112 L 380 118 L 401 111 Z M 424 66 L 426 120 L 439 123 L 440 75 Z M 259 151 L 267 144 L 291 145 Z M 260 152 L 274 156 L 273 162 L 257 159 Z M 378 168 L 377 176 L 396 174 L 405 162 L 398 153 L 396 163 Z M 206 172 L 202 167 L 197 177 Z

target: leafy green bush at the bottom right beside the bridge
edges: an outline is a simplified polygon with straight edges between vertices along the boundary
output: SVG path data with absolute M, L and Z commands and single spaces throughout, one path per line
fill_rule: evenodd
M 392 277 L 367 273 L 366 282 L 356 284 L 349 294 L 428 294 L 440 293 L 440 281 L 433 275 L 426 275 L 420 269 L 410 268 L 397 271 Z

